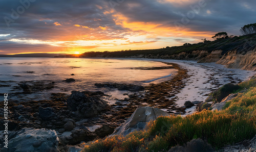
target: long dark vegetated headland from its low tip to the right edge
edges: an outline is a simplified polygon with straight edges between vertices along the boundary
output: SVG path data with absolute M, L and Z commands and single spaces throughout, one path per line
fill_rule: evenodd
M 251 35 L 243 35 L 243 36 L 234 36 L 228 38 L 219 38 L 215 41 L 204 40 L 204 42 L 189 44 L 185 43 L 181 46 L 172 46 L 172 47 L 164 47 L 159 49 L 143 49 L 143 50 L 118 50 L 116 52 L 86 52 L 81 54 L 79 57 L 82 58 L 127 58 L 127 57 L 147 57 L 147 58 L 157 58 L 160 56 L 173 56 L 178 55 L 180 53 L 190 54 L 190 58 L 195 58 L 197 55 L 192 54 L 193 51 L 196 50 L 206 50 L 208 53 L 211 53 L 213 50 L 222 50 L 222 55 L 227 53 L 229 50 L 238 48 L 242 49 L 243 46 L 253 45 L 256 41 L 256 34 Z M 253 43 L 253 44 L 252 44 Z M 58 56 L 58 57 L 78 57 L 75 55 L 66 55 L 66 56 Z M 177 59 L 177 58 L 173 58 Z

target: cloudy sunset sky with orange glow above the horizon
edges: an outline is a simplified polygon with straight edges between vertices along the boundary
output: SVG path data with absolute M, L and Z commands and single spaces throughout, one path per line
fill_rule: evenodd
M 241 35 L 254 0 L 1 0 L 0 54 L 78 54 Z

